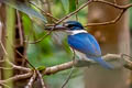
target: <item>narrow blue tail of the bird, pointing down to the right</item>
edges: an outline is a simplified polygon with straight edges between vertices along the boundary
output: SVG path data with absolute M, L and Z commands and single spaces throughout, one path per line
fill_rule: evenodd
M 113 69 L 114 68 L 112 65 L 110 65 L 109 63 L 105 62 L 101 57 L 94 57 L 92 59 L 95 62 L 99 63 L 105 68 L 108 68 L 108 69 Z

